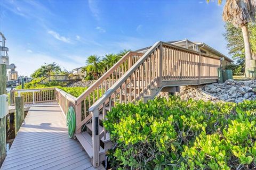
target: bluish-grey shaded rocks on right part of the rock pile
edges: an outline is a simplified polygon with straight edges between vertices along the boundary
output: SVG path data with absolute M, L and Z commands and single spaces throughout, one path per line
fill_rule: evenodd
M 240 103 L 243 100 L 255 100 L 256 81 L 227 80 L 225 83 L 207 84 L 202 90 L 209 92 L 219 100 Z M 255 91 L 255 92 L 254 92 Z

